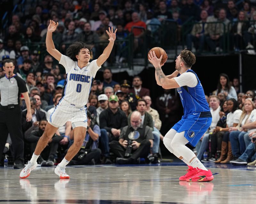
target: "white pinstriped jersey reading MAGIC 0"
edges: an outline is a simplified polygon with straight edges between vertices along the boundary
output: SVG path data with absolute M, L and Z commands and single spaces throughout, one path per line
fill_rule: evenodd
M 68 101 L 73 106 L 84 106 L 92 88 L 92 82 L 98 67 L 97 60 L 88 62 L 87 66 L 80 69 L 77 62 L 71 60 L 68 56 L 61 55 L 60 64 L 66 69 L 66 85 L 62 99 Z

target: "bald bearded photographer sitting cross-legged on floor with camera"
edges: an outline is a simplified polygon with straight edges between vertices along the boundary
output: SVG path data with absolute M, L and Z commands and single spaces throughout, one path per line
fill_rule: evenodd
M 109 143 L 117 156 L 117 164 L 135 164 L 138 158 L 147 158 L 150 147 L 153 146 L 152 131 L 141 123 L 140 112 L 134 111 L 130 121 L 130 125 L 122 129 L 119 141 Z

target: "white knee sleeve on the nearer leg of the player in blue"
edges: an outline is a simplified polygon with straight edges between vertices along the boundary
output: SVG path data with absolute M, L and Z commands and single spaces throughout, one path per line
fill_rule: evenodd
M 184 132 L 176 133 L 172 139 L 171 148 L 189 162 L 196 155 L 191 149 L 185 146 L 187 143 L 188 140 L 184 137 Z

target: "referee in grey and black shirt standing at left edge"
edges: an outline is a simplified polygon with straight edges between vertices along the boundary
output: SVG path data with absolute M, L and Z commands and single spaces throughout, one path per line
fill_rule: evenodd
M 22 78 L 13 73 L 14 65 L 11 59 L 3 63 L 5 75 L 0 77 L 0 161 L 4 145 L 10 133 L 13 149 L 13 168 L 24 167 L 24 141 L 21 127 L 20 93 L 25 98 L 27 106 L 27 121 L 31 121 L 31 107 L 28 90 Z

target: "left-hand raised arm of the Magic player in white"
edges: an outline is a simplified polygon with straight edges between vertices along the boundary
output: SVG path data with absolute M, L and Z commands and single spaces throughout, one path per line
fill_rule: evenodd
M 56 30 L 58 25 L 58 22 L 56 24 L 54 21 L 50 20 L 50 24 L 48 26 L 46 33 L 45 43 L 47 52 L 50 55 L 52 55 L 56 60 L 60 61 L 61 53 L 55 48 L 54 43 L 52 41 L 52 33 Z

